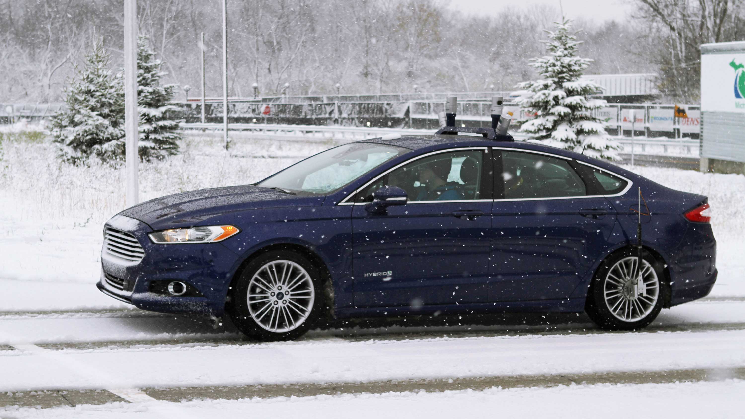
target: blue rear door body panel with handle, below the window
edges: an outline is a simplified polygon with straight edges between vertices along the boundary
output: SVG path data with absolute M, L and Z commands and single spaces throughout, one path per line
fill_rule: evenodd
M 588 206 L 612 211 L 603 197 L 494 202 L 490 301 L 568 298 L 615 224 L 615 216 L 580 215 Z

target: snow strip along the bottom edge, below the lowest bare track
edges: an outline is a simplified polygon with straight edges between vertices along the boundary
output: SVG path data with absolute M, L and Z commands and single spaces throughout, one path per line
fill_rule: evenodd
M 741 418 L 745 381 L 489 388 L 9 409 L 13 418 Z M 0 409 L 0 415 L 2 410 Z M 8 416 L 10 418 L 10 416 Z

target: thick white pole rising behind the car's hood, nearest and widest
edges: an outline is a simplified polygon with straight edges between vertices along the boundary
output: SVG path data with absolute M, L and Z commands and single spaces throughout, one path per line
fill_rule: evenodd
M 137 170 L 137 0 L 124 0 L 124 159 L 127 165 L 127 207 L 139 202 Z

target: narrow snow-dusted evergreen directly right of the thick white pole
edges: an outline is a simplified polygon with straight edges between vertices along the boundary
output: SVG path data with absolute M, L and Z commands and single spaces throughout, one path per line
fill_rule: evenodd
M 161 61 L 148 45 L 148 38 L 137 42 L 137 109 L 139 112 L 139 156 L 143 160 L 162 159 L 178 151 L 176 141 L 178 121 L 169 119 L 177 106 L 168 103 L 174 97 L 176 85 L 160 86 L 166 73 L 160 71 Z

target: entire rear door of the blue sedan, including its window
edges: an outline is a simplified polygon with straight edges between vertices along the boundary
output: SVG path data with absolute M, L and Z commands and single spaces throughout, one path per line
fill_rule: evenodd
M 495 150 L 490 301 L 568 298 L 604 254 L 615 210 L 580 173 L 562 156 Z

